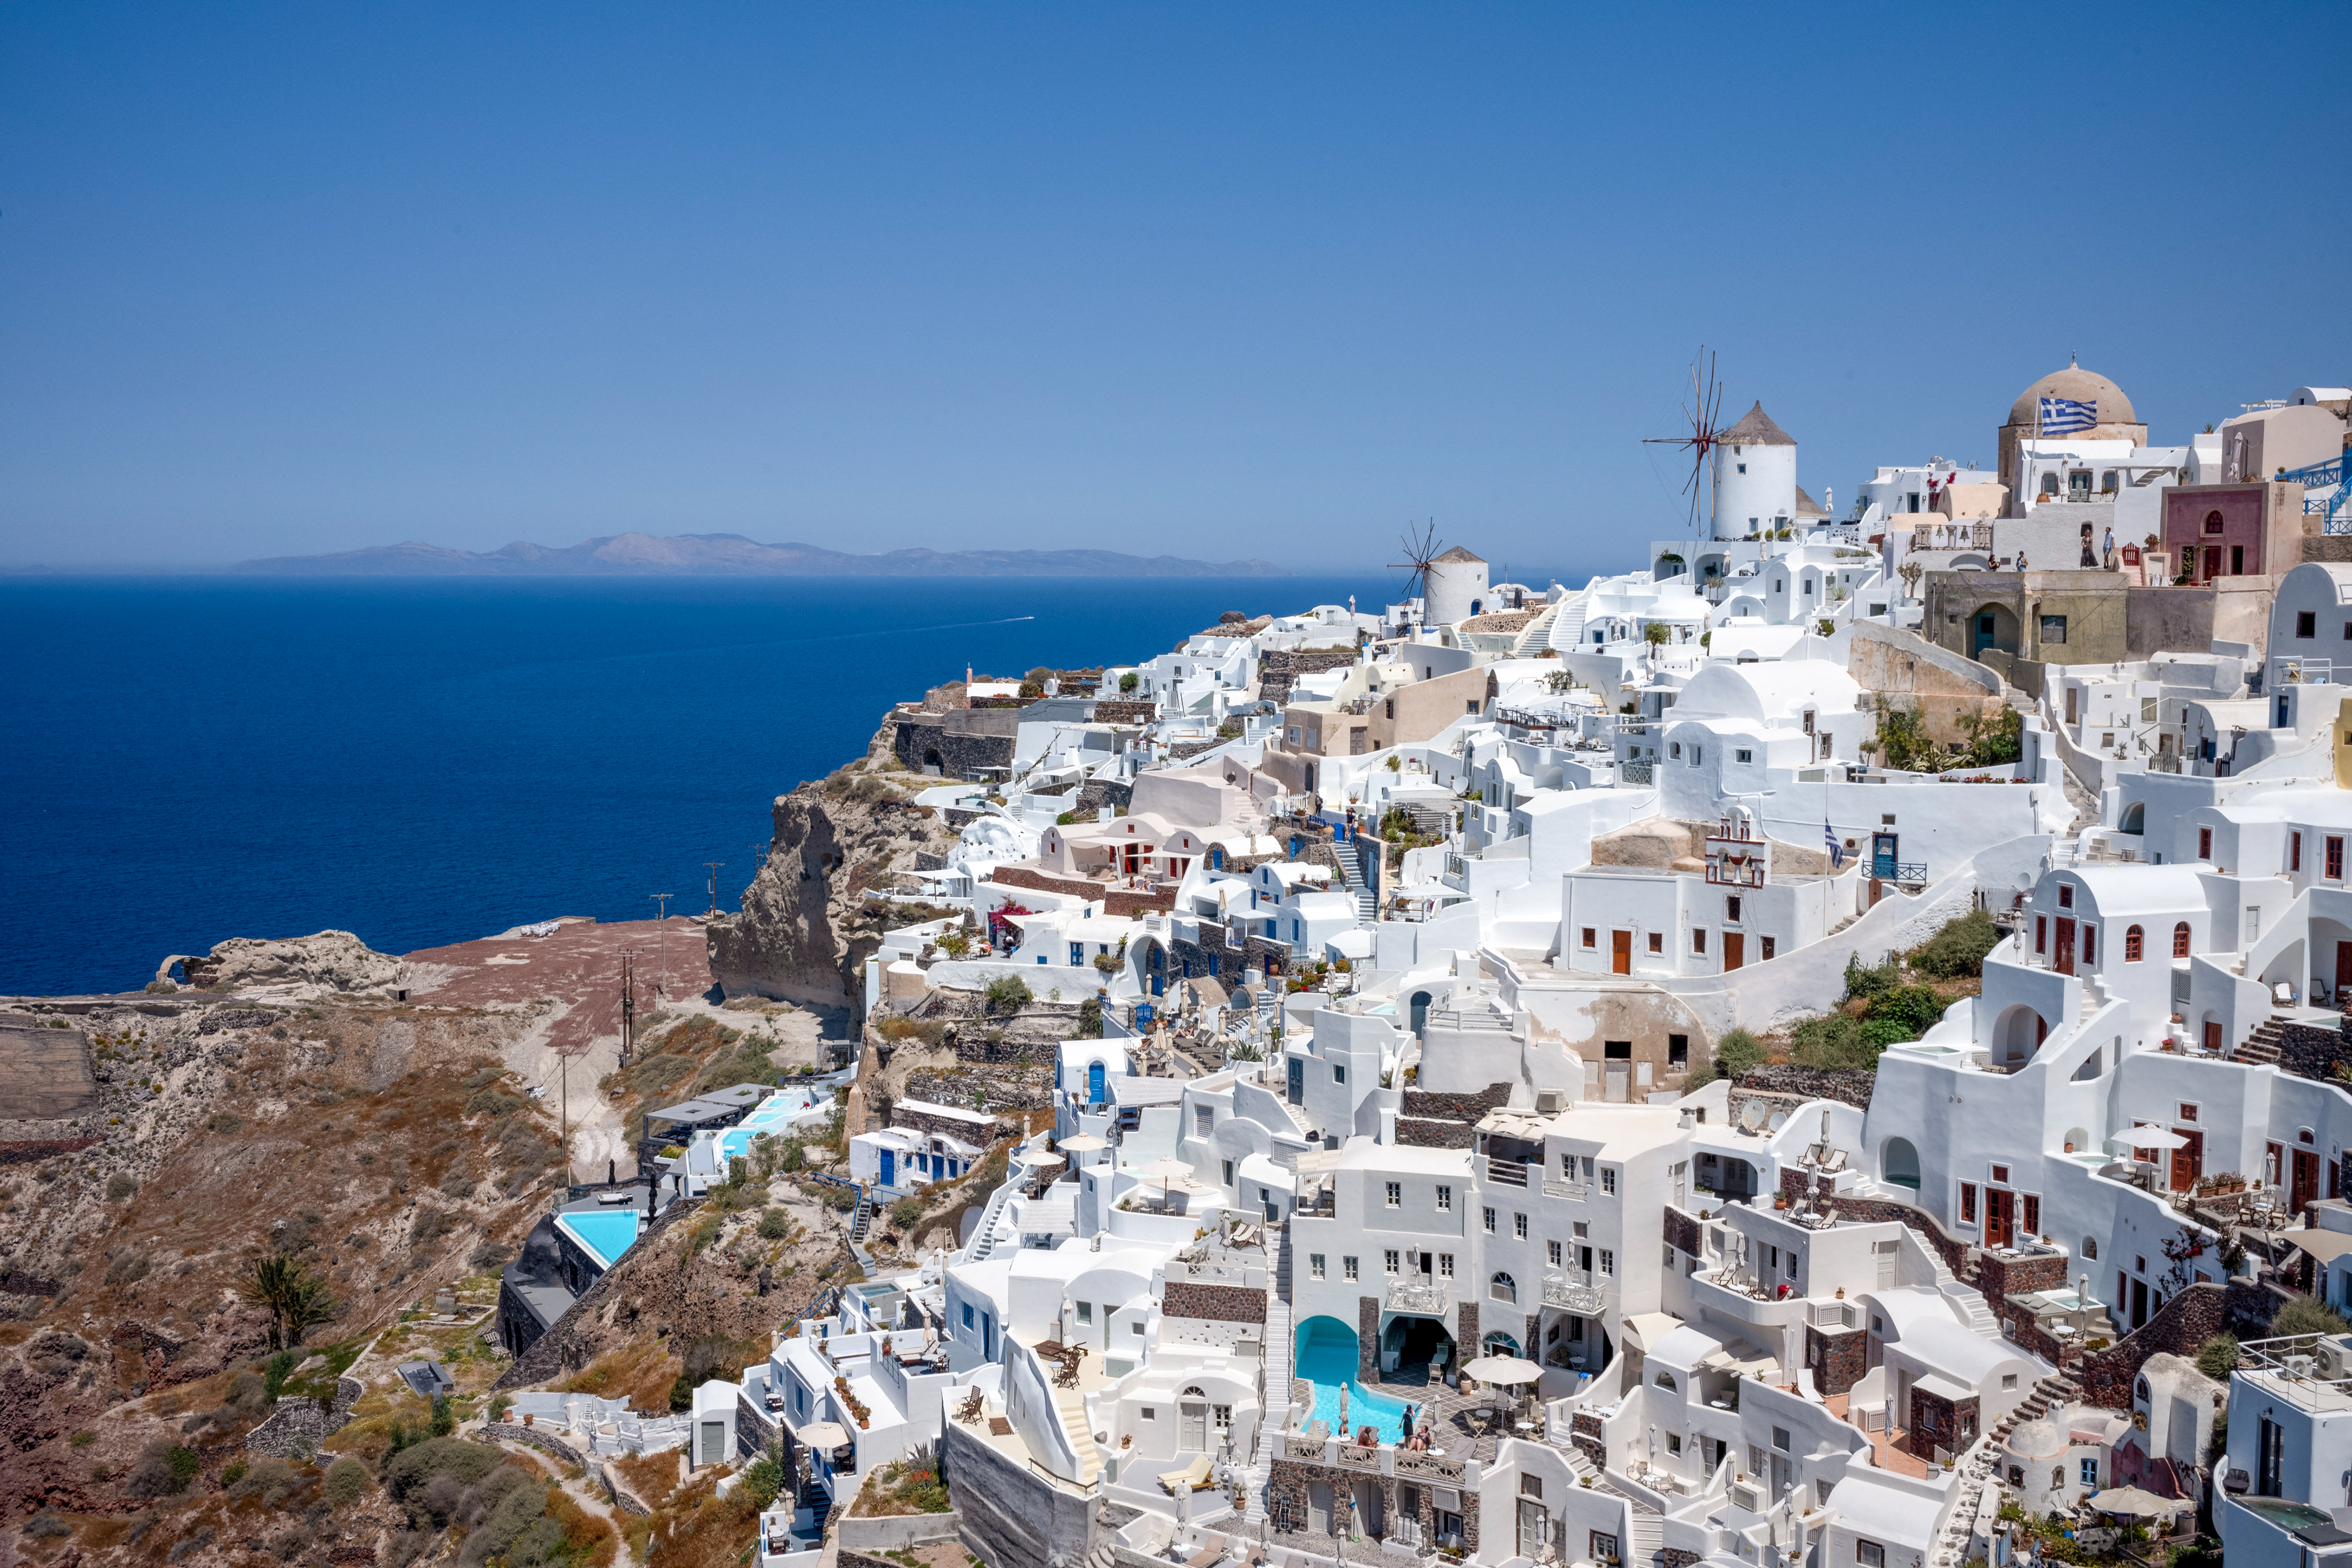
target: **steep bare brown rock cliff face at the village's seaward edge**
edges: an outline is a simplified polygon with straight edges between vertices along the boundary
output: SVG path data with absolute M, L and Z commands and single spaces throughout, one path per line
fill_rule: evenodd
M 783 997 L 856 1009 L 863 964 L 884 926 L 908 924 L 868 891 L 894 886 L 917 853 L 946 853 L 955 830 L 908 792 L 938 783 L 896 773 L 887 743 L 823 783 L 776 797 L 767 865 L 743 889 L 743 907 L 706 929 L 710 976 L 727 994 Z

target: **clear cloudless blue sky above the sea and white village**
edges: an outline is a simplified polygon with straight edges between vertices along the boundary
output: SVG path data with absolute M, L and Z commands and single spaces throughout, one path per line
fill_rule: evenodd
M 0 7 L 0 562 L 1352 567 L 2352 378 L 2352 7 Z

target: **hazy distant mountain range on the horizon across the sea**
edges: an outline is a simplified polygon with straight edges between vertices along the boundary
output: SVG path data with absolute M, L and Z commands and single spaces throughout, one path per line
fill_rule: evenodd
M 405 543 L 273 555 L 230 571 L 268 576 L 1291 576 L 1272 562 L 1188 562 L 1115 550 L 887 550 L 762 545 L 741 534 L 607 534 L 564 550 L 513 543 L 477 555 Z

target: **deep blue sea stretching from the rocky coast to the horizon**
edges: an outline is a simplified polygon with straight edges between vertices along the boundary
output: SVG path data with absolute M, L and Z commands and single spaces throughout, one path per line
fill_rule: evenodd
M 1543 576 L 1517 574 L 1543 583 Z M 1583 583 L 1583 576 L 1562 576 Z M 1136 663 L 1327 578 L 5 578 L 0 994 L 233 936 L 381 952 L 736 898 L 891 703 Z

